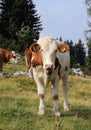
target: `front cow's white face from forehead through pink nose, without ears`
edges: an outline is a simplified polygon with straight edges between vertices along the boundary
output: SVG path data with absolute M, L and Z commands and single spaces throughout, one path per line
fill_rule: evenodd
M 48 42 L 39 42 L 43 68 L 45 70 L 52 70 L 55 68 L 55 59 L 57 53 L 57 45 L 54 39 Z

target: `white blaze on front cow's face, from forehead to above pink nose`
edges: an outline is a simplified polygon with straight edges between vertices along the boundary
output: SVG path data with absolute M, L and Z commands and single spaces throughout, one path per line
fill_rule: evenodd
M 57 50 L 56 40 L 52 37 L 42 37 L 37 41 L 37 43 L 41 46 L 43 67 L 45 68 L 46 64 L 52 64 L 55 68 Z

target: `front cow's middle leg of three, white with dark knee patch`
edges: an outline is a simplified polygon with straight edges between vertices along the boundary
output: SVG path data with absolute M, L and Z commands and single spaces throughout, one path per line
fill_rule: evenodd
M 53 83 L 53 88 L 52 88 L 52 97 L 54 99 L 55 116 L 60 116 L 60 107 L 59 107 L 59 101 L 58 101 L 58 85 L 59 85 L 59 79 L 56 78 L 56 80 Z

